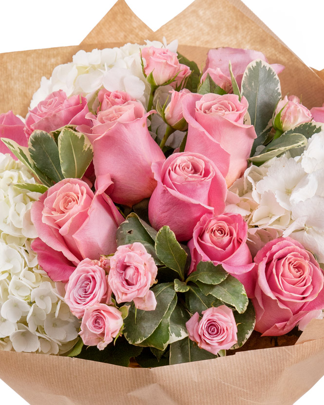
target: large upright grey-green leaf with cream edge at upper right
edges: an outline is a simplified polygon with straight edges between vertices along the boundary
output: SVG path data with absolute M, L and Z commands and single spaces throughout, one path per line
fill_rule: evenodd
M 273 111 L 281 99 L 280 80 L 272 67 L 261 59 L 250 62 L 243 74 L 242 96 L 248 100 L 248 113 L 255 132 L 261 135 L 272 121 Z M 255 139 L 251 154 L 264 139 Z

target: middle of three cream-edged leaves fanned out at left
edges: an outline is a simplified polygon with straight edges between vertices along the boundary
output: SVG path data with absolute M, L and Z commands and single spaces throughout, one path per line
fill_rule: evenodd
M 63 180 L 57 144 L 50 134 L 36 130 L 28 140 L 28 150 L 38 169 L 56 183 Z

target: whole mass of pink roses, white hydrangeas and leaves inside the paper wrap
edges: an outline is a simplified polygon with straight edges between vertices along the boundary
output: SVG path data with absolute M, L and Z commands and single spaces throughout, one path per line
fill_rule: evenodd
M 0 116 L 2 350 L 226 374 L 323 318 L 323 107 L 177 46 L 80 50 Z

